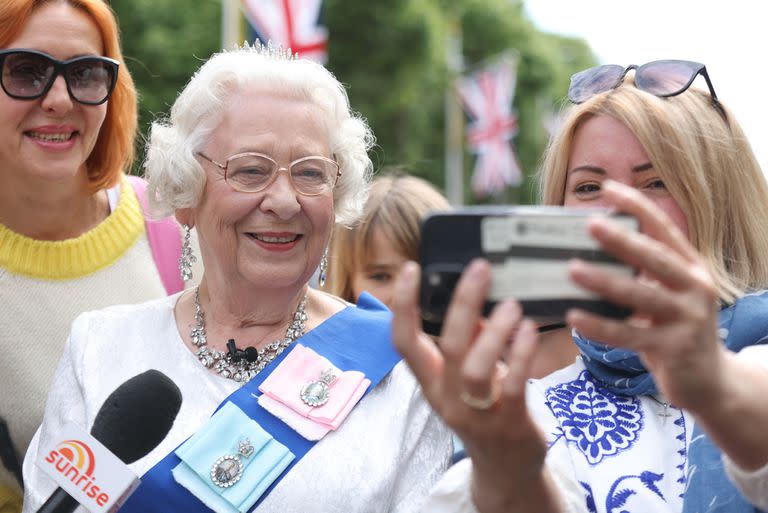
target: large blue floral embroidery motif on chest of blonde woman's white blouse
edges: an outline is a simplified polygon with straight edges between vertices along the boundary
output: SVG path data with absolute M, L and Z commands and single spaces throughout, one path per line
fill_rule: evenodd
M 610 392 L 587 371 L 548 388 L 546 397 L 566 441 L 575 444 L 590 465 L 630 448 L 643 428 L 640 400 Z

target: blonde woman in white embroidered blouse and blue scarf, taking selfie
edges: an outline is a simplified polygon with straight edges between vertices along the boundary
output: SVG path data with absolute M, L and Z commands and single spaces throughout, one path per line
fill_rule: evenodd
M 558 335 L 580 358 L 527 381 L 537 334 L 518 303 L 481 322 L 487 262 L 462 277 L 440 348 L 418 328 L 418 266 L 401 273 L 396 345 L 471 457 L 448 471 L 427 511 L 756 509 L 729 484 L 716 446 L 747 478 L 765 476 L 768 186 L 709 77 L 709 91 L 689 89 L 702 65 L 632 68 L 574 77 L 578 105 L 541 170 L 543 203 L 639 220 L 640 232 L 605 217 L 589 225 L 636 276 L 581 261 L 569 270 L 578 286 L 629 307 L 628 319 L 570 311 Z

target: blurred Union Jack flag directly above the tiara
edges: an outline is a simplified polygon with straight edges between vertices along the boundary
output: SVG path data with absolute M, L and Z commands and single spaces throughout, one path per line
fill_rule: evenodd
M 290 48 L 299 57 L 326 61 L 328 30 L 320 25 L 322 0 L 242 0 L 256 37 Z

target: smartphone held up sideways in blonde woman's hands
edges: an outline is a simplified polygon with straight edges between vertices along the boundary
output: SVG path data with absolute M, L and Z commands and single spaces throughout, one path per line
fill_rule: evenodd
M 600 249 L 587 231 L 590 216 L 607 215 L 626 229 L 637 220 L 604 209 L 554 206 L 463 207 L 429 215 L 421 234 L 422 329 L 439 335 L 453 290 L 477 257 L 491 263 L 488 315 L 505 298 L 521 303 L 540 329 L 562 325 L 570 308 L 625 318 L 629 309 L 581 289 L 568 278 L 568 261 L 580 258 L 619 275 L 635 270 Z

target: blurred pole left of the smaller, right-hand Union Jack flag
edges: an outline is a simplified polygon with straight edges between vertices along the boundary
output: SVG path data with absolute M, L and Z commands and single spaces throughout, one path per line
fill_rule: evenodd
M 451 205 L 464 204 L 464 112 L 458 95 L 458 78 L 464 65 L 461 22 L 450 16 L 445 42 L 448 86 L 445 90 L 445 195 Z

